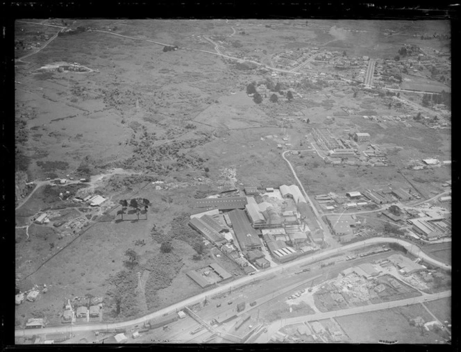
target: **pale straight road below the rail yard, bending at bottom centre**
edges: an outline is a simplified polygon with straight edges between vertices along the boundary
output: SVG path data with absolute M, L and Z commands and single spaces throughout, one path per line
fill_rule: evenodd
M 445 292 L 440 292 L 437 294 L 426 294 L 424 296 L 414 297 L 411 299 L 402 299 L 400 301 L 377 303 L 377 304 L 371 304 L 371 305 L 364 305 L 362 307 L 347 308 L 344 310 L 335 310 L 333 312 L 324 312 L 324 313 L 317 313 L 313 315 L 305 315 L 303 317 L 281 319 L 278 321 L 274 321 L 267 328 L 268 330 L 267 333 L 263 333 L 258 338 L 258 340 L 256 340 L 256 342 L 258 343 L 268 342 L 270 337 L 274 335 L 274 333 L 276 333 L 282 326 L 300 324 L 300 323 L 304 323 L 305 321 L 318 321 L 318 320 L 330 319 L 330 318 L 335 318 L 335 317 L 344 317 L 346 315 L 355 315 L 355 314 L 360 314 L 363 312 L 373 312 L 376 310 L 402 307 L 403 305 L 423 303 L 426 301 L 434 301 L 436 299 L 441 299 L 441 298 L 449 297 L 449 296 L 451 296 L 451 291 L 445 291 Z

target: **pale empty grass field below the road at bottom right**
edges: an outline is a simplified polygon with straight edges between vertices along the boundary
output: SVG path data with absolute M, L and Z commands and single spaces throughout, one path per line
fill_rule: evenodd
M 336 320 L 355 343 L 376 344 L 378 340 L 399 340 L 399 344 L 434 344 L 435 340 L 440 340 L 439 335 L 433 332 L 410 326 L 399 308 L 338 317 Z M 363 324 L 364 321 L 367 324 Z

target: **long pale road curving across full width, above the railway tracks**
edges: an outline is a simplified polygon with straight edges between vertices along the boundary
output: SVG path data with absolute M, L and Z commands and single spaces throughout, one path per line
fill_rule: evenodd
M 360 241 L 360 242 L 355 242 L 353 244 L 348 244 L 346 246 L 342 246 L 340 248 L 336 249 L 329 249 L 327 251 L 321 251 L 314 253 L 312 255 L 309 255 L 308 257 L 301 258 L 300 260 L 295 260 L 294 262 L 289 262 L 285 265 L 280 265 L 278 267 L 269 269 L 267 271 L 262 271 L 258 274 L 255 274 L 253 276 L 245 276 L 244 278 L 240 278 L 238 280 L 235 280 L 233 282 L 230 282 L 226 285 L 222 285 L 221 287 L 216 287 L 213 290 L 209 290 L 207 292 L 203 292 L 201 294 L 197 294 L 196 296 L 190 297 L 189 299 L 185 299 L 184 301 L 175 303 L 173 305 L 170 305 L 167 308 L 163 308 L 162 310 L 158 310 L 157 312 L 152 312 L 148 315 L 145 315 L 144 317 L 140 317 L 137 319 L 132 319 L 128 321 L 122 321 L 120 323 L 112 323 L 112 324 L 90 324 L 90 325 L 78 325 L 78 326 L 59 326 L 59 327 L 50 327 L 50 328 L 43 328 L 40 329 L 40 333 L 46 334 L 46 333 L 72 333 L 72 332 L 77 332 L 77 331 L 92 331 L 92 330 L 104 330 L 104 329 L 115 329 L 115 328 L 126 328 L 128 326 L 136 325 L 136 324 L 142 324 L 144 321 L 150 320 L 150 319 L 157 319 L 159 317 L 162 317 L 165 313 L 169 312 L 174 312 L 176 310 L 181 310 L 184 308 L 185 305 L 193 305 L 194 303 L 201 302 L 205 299 L 206 296 L 214 296 L 215 294 L 221 294 L 223 292 L 227 292 L 228 290 L 231 290 L 232 288 L 240 287 L 242 285 L 245 285 L 247 283 L 251 283 L 252 280 L 258 280 L 260 278 L 264 278 L 265 276 L 269 276 L 271 274 L 274 274 L 275 272 L 282 271 L 283 269 L 287 269 L 290 267 L 299 267 L 301 265 L 309 264 L 312 262 L 317 262 L 319 260 L 323 260 L 326 258 L 329 258 L 331 255 L 335 255 L 337 253 L 342 253 L 342 252 L 347 252 L 351 251 L 353 249 L 360 249 L 365 246 L 371 246 L 373 244 L 389 244 L 389 243 L 396 243 L 396 244 L 401 244 L 402 246 L 405 247 L 410 253 L 413 255 L 421 258 L 425 262 L 428 262 L 430 265 L 434 265 L 435 267 L 441 267 L 444 269 L 451 270 L 451 265 L 446 265 L 444 262 L 440 262 L 439 260 L 435 258 L 431 258 L 429 255 L 424 253 L 419 246 L 416 244 L 412 244 L 410 242 L 407 242 L 405 240 L 397 239 L 397 238 L 387 238 L 387 237 L 374 237 L 370 238 L 368 240 Z M 21 336 L 30 336 L 30 335 L 35 335 L 37 334 L 37 330 L 35 329 L 30 329 L 30 330 L 16 330 L 15 331 L 15 336 L 16 337 L 21 337 Z

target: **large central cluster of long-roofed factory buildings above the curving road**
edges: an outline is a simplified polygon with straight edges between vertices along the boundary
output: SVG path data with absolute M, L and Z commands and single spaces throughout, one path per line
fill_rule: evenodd
M 197 199 L 193 203 L 190 226 L 247 274 L 251 274 L 253 266 L 269 267 L 263 246 L 274 260 L 285 262 L 317 249 L 315 244 L 323 242 L 323 234 L 311 234 L 303 221 L 309 210 L 299 187 L 281 185 L 279 190 L 268 188 L 267 192 L 280 192 L 284 199 L 292 199 L 296 210 L 279 212 L 273 203 L 258 203 L 252 196 Z M 245 187 L 245 193 L 256 194 L 257 190 Z M 309 246 L 309 242 L 315 244 Z

